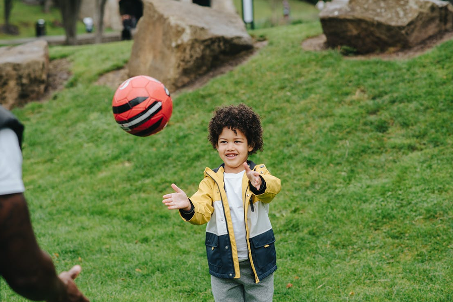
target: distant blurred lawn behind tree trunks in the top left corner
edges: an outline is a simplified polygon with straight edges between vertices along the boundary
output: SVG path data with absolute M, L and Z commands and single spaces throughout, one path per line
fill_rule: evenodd
M 1 24 L 5 24 L 4 4 L 0 5 Z M 60 11 L 52 7 L 49 13 L 44 13 L 41 6 L 27 5 L 20 0 L 13 0 L 13 9 L 10 15 L 10 24 L 19 27 L 19 35 L 7 35 L 0 32 L 0 39 L 18 39 L 35 37 L 36 35 L 36 22 L 38 19 L 44 19 L 46 22 L 46 35 L 64 35 L 64 28 L 62 26 L 62 19 Z M 77 23 L 77 32 L 79 34 L 85 33 L 85 25 L 82 21 Z

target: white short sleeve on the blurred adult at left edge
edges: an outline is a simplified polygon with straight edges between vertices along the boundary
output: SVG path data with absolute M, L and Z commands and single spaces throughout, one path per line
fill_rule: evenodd
M 0 130 L 0 195 L 23 193 L 22 152 L 19 139 L 10 128 Z

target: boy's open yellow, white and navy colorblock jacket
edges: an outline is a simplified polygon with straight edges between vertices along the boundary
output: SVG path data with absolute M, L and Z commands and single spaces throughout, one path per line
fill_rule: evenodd
M 257 191 L 247 175 L 242 179 L 244 221 L 249 260 L 258 283 L 277 269 L 275 237 L 269 220 L 269 203 L 280 192 L 280 179 L 272 176 L 264 165 L 248 161 L 251 170 L 258 171 L 262 186 Z M 222 164 L 217 169 L 206 168 L 204 179 L 190 201 L 190 213 L 181 217 L 192 224 L 206 225 L 206 254 L 209 273 L 219 278 L 240 278 L 239 258 L 233 231 L 230 207 L 223 182 Z

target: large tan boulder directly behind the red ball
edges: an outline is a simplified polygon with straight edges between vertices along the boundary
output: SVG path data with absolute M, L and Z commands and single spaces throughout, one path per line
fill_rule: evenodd
M 131 77 L 149 75 L 174 91 L 253 49 L 236 13 L 170 0 L 143 0 L 143 4 L 128 63 Z

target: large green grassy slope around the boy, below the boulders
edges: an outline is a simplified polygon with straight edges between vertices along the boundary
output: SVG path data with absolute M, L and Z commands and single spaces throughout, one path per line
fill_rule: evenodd
M 14 113 L 34 230 L 57 270 L 81 264 L 92 301 L 213 301 L 204 226 L 161 201 L 172 182 L 192 194 L 219 164 L 211 113 L 244 102 L 264 127 L 251 160 L 282 182 L 274 301 L 451 301 L 453 41 L 409 60 L 354 60 L 301 49 L 318 22 L 251 33 L 268 45 L 175 97 L 168 126 L 146 138 L 116 125 L 114 91 L 93 84 L 131 42 L 50 48 L 73 78 Z M 24 300 L 7 286 L 0 296 Z

